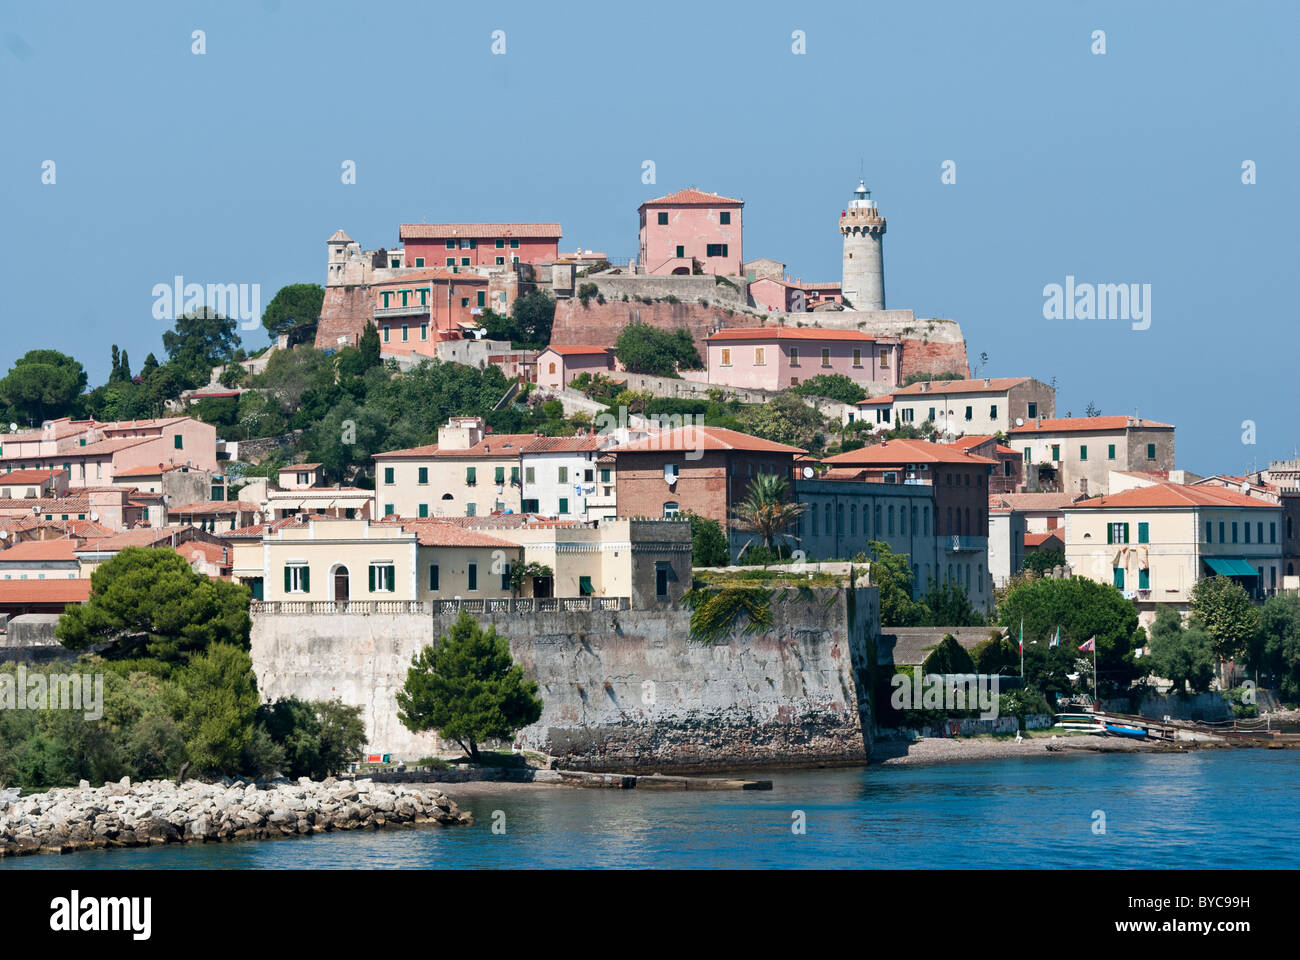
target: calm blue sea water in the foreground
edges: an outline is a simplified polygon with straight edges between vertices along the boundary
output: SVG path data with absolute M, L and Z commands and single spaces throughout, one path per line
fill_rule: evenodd
M 774 790 L 503 791 L 463 804 L 472 827 L 35 856 L 0 870 L 1300 868 L 1300 751 L 755 775 Z M 504 834 L 493 833 L 494 810 Z M 796 810 L 802 835 L 792 831 Z

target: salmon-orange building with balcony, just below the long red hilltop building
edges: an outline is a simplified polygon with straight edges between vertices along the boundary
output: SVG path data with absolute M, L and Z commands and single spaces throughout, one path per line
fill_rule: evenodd
M 478 325 L 488 306 L 488 277 L 420 271 L 373 284 L 370 294 L 380 349 L 433 356 L 439 340 L 459 340 L 464 328 Z

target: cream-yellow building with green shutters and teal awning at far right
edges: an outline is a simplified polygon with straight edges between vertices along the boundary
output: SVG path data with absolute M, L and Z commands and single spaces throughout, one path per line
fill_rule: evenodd
M 1062 507 L 1075 576 L 1114 584 L 1143 623 L 1186 609 L 1193 584 L 1227 576 L 1261 598 L 1282 576 L 1282 507 L 1217 487 L 1157 483 Z

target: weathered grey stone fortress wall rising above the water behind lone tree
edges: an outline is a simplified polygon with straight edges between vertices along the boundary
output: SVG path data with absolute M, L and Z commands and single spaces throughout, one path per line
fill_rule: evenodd
M 771 628 L 733 632 L 715 645 L 689 641 L 689 610 L 676 606 L 484 614 L 480 622 L 508 637 L 515 660 L 540 684 L 542 717 L 517 741 L 572 766 L 864 761 L 878 593 L 814 594 L 777 592 Z M 360 705 L 370 752 L 417 760 L 443 747 L 433 734 L 400 725 L 395 695 L 416 650 L 452 622 L 419 614 L 255 615 L 259 689 L 264 700 L 294 695 Z

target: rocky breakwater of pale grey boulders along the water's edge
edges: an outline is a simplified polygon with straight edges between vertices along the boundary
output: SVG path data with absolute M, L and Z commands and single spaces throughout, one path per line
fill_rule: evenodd
M 473 823 L 438 791 L 372 780 L 146 780 L 0 793 L 0 857 L 257 840 L 407 823 Z

